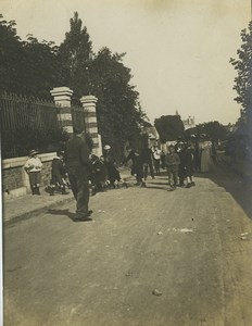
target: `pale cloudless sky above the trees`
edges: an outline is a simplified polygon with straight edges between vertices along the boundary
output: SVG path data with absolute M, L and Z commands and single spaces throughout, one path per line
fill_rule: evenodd
M 251 18 L 251 0 L 0 0 L 22 39 L 60 45 L 77 11 L 94 52 L 126 52 L 131 84 L 150 122 L 175 114 L 196 123 L 240 115 L 229 63 Z

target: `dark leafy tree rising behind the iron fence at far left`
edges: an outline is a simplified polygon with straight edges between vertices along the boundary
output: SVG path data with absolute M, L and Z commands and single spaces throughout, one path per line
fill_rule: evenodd
M 2 16 L 1 16 L 2 18 Z M 28 35 L 22 41 L 15 22 L 0 21 L 0 89 L 38 98 L 51 98 L 60 79 L 58 47 Z

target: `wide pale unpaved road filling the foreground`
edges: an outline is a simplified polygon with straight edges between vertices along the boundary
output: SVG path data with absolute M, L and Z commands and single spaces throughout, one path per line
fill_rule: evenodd
M 7 226 L 4 326 L 251 326 L 251 188 L 166 183 L 98 193 L 93 222 L 73 202 Z

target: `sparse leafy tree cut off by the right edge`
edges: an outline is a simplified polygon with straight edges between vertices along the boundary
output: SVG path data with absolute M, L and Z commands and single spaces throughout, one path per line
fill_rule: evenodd
M 238 96 L 235 98 L 241 104 L 245 120 L 242 120 L 245 133 L 252 137 L 252 22 L 249 28 L 241 30 L 241 48 L 237 50 L 238 59 L 230 59 L 237 71 L 234 89 Z

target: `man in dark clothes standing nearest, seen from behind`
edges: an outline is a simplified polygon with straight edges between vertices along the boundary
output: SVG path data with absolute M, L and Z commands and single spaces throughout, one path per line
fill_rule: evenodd
M 68 172 L 71 188 L 76 199 L 75 221 L 90 220 L 92 211 L 89 203 L 89 150 L 83 139 L 83 129 L 74 128 L 74 136 L 66 143 L 65 164 Z

